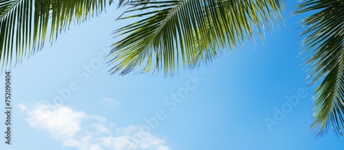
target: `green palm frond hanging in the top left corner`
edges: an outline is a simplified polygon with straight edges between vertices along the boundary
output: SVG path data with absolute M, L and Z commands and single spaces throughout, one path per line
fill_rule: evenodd
M 112 0 L 0 0 L 0 63 L 11 68 L 69 28 L 98 15 Z

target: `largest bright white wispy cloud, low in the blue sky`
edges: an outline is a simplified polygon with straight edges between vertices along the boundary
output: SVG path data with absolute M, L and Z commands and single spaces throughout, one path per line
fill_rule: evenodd
M 142 126 L 106 125 L 107 118 L 73 110 L 64 105 L 36 104 L 21 110 L 28 114 L 28 124 L 48 132 L 66 147 L 79 150 L 169 150 L 166 140 L 144 130 Z

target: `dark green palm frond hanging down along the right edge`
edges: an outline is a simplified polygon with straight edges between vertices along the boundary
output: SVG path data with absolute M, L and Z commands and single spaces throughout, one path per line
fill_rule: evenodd
M 308 0 L 297 13 L 315 11 L 303 19 L 305 51 L 311 51 L 308 64 L 316 88 L 312 131 L 322 136 L 329 127 L 343 136 L 344 125 L 344 0 Z

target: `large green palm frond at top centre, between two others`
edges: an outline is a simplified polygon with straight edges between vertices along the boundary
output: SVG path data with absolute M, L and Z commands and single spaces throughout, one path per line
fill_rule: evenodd
M 110 71 L 125 75 L 141 65 L 142 72 L 173 75 L 180 62 L 188 68 L 206 64 L 221 49 L 235 48 L 261 35 L 270 21 L 279 20 L 281 0 L 161 0 L 129 1 L 132 5 L 119 19 L 140 18 L 116 30 L 126 35 L 114 43 Z

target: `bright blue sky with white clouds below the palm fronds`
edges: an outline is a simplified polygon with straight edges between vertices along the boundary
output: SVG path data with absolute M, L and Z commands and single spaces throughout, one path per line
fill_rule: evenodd
M 308 129 L 314 87 L 297 57 L 296 4 L 286 2 L 286 27 L 264 44 L 173 78 L 109 75 L 103 58 L 123 10 L 73 25 L 12 69 L 12 145 L 0 149 L 343 149 L 332 131 L 316 138 Z

